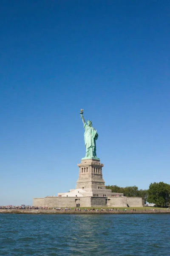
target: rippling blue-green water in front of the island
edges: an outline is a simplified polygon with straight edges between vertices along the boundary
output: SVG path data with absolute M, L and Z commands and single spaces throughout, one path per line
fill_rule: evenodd
M 169 227 L 169 214 L 0 214 L 0 256 L 169 256 Z

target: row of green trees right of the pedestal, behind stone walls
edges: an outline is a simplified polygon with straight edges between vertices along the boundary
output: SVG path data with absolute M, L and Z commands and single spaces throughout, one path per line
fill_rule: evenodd
M 127 197 L 142 197 L 144 203 L 153 203 L 157 207 L 166 207 L 170 205 L 170 184 L 159 182 L 150 183 L 149 189 L 138 189 L 137 186 L 119 187 L 117 185 L 108 185 L 106 189 L 112 192 L 123 193 Z

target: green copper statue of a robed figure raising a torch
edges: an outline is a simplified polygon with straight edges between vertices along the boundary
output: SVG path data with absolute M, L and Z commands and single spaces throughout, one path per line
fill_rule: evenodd
M 97 131 L 92 127 L 92 122 L 90 120 L 88 120 L 87 123 L 85 122 L 84 116 L 82 114 L 83 114 L 83 109 L 80 110 L 80 116 L 85 129 L 84 139 L 85 139 L 86 153 L 83 159 L 87 159 L 87 158 L 99 159 L 96 157 L 96 140 L 98 138 Z

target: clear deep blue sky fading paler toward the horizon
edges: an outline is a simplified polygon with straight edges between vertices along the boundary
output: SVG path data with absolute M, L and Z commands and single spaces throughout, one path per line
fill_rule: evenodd
M 170 1 L 0 5 L 0 205 L 75 188 L 81 108 L 106 185 L 170 183 Z

